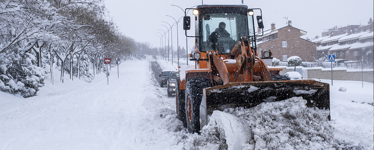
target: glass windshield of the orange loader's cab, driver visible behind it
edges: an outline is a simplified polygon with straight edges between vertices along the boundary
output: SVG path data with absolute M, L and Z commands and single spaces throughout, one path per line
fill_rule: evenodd
M 240 37 L 254 35 L 252 16 L 238 13 L 208 13 L 202 20 L 202 45 L 200 50 L 217 50 L 220 54 L 228 54 Z M 249 26 L 248 26 L 249 25 Z M 253 47 L 251 43 L 251 47 Z

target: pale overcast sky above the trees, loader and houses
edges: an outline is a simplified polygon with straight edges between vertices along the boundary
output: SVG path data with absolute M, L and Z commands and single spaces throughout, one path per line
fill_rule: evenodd
M 231 1 L 231 2 L 227 2 Z M 241 0 L 203 0 L 203 4 L 241 4 Z M 110 18 L 120 31 L 138 42 L 150 43 L 152 47 L 160 47 L 158 29 L 166 31 L 166 27 L 184 16 L 181 8 L 189 8 L 202 4 L 202 0 L 104 0 Z M 309 37 L 321 37 L 324 29 L 334 26 L 367 25 L 374 14 L 373 0 L 244 0 L 248 8 L 261 8 L 263 12 L 264 30 L 275 23 L 276 28 L 286 25 L 287 19 L 292 26 L 304 30 Z M 255 14 L 255 16 L 258 14 Z M 183 19 L 181 19 L 183 20 Z M 165 22 L 162 22 L 165 21 Z M 186 47 L 186 36 L 183 24 L 178 24 L 179 45 Z M 177 45 L 177 28 L 173 27 L 173 47 Z M 188 38 L 188 49 L 193 46 L 193 38 Z

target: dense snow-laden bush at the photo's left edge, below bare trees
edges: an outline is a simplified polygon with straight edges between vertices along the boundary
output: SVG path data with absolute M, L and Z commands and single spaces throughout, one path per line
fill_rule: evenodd
M 35 96 L 44 86 L 46 71 L 36 65 L 35 57 L 19 50 L 0 54 L 0 90 L 23 97 Z

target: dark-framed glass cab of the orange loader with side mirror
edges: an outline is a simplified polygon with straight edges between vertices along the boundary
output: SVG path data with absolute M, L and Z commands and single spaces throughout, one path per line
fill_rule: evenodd
M 246 5 L 199 5 L 193 14 L 195 36 L 188 36 L 187 31 L 186 36 L 195 37 L 195 45 L 200 52 L 217 50 L 220 54 L 229 54 L 240 37 L 249 37 L 251 48 L 255 50 L 254 17 L 249 11 L 253 12 Z M 221 22 L 226 28 L 224 33 L 217 34 Z M 185 20 L 184 25 L 189 27 L 186 23 L 189 22 Z

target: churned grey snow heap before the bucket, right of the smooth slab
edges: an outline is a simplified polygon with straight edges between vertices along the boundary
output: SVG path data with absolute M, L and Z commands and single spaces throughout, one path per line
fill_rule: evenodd
M 244 109 L 225 109 L 246 121 L 254 137 L 254 149 L 335 149 L 334 128 L 328 121 L 328 110 L 305 106 L 302 97 L 284 101 L 261 103 Z M 243 144 L 253 150 L 253 144 Z

